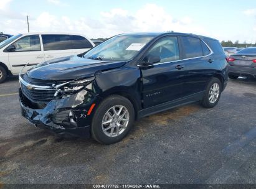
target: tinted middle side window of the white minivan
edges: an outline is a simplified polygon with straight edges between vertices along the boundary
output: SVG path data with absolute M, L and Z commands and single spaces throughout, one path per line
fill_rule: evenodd
M 44 50 L 68 50 L 73 48 L 71 35 L 42 35 Z

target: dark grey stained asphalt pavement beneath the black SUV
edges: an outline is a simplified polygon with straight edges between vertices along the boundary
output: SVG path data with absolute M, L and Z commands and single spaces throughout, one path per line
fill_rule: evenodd
M 215 108 L 193 103 L 135 122 L 113 145 L 59 137 L 21 117 L 16 77 L 0 84 L 0 185 L 254 183 L 256 81 L 229 80 Z

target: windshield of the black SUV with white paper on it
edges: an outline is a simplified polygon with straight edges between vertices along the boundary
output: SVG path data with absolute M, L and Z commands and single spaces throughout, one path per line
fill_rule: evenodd
M 92 48 L 84 57 L 109 61 L 131 60 L 151 39 L 151 36 L 116 36 Z

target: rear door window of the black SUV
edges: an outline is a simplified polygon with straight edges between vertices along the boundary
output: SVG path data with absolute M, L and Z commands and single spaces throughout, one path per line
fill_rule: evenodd
M 181 37 L 184 58 L 202 57 L 201 40 L 194 37 Z

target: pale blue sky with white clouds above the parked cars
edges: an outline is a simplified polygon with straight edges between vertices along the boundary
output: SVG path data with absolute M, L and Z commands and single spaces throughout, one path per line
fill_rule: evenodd
M 71 32 L 90 38 L 186 32 L 256 42 L 255 0 L 0 0 L 0 32 Z

